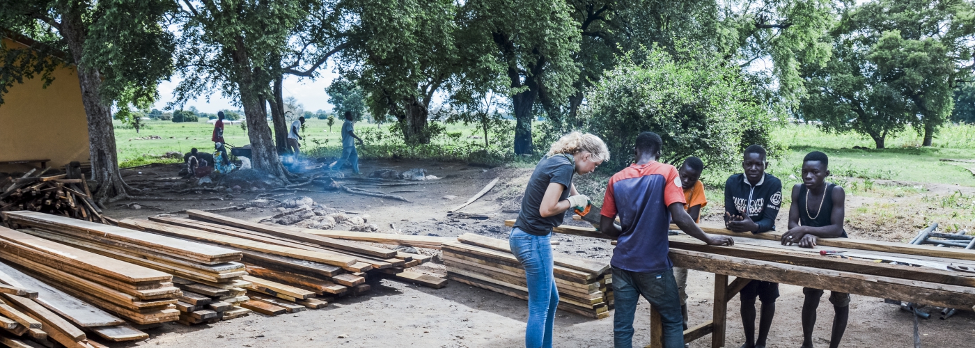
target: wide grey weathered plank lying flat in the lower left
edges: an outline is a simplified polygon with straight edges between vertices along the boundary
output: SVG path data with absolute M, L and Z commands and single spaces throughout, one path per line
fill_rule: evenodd
M 36 291 L 32 300 L 57 313 L 74 326 L 96 333 L 101 338 L 119 342 L 148 338 L 148 334 L 132 328 L 125 321 L 102 311 L 72 295 L 49 286 L 16 268 L 0 262 L 0 283 L 11 287 Z M 3 295 L 10 294 L 5 292 Z M 29 296 L 27 296 L 29 297 Z

